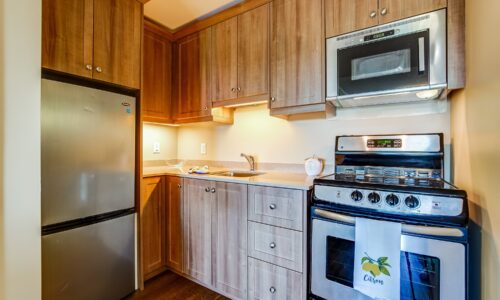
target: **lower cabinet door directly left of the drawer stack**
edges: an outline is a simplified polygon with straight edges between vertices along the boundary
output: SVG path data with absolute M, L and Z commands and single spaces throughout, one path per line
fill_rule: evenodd
M 215 287 L 231 299 L 247 294 L 247 185 L 216 183 Z

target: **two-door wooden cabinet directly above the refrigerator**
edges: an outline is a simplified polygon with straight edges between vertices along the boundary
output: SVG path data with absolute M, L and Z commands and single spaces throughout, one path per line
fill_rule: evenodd
M 140 2 L 43 0 L 42 5 L 42 67 L 140 87 Z

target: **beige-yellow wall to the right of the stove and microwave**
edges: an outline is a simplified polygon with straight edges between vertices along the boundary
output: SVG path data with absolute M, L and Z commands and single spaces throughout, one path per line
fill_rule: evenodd
M 500 295 L 500 41 L 492 38 L 499 11 L 498 0 L 466 1 L 467 86 L 452 101 L 455 183 L 482 229 L 482 299 Z

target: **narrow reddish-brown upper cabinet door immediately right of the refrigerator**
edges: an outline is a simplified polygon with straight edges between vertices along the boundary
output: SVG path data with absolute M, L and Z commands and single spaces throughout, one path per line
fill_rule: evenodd
M 169 122 L 172 79 L 171 42 L 146 27 L 143 49 L 143 118 L 151 122 Z

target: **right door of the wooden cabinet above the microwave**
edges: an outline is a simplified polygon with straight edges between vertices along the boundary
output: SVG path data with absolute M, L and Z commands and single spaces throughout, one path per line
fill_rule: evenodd
M 444 7 L 446 0 L 379 0 L 379 20 L 382 24 Z

